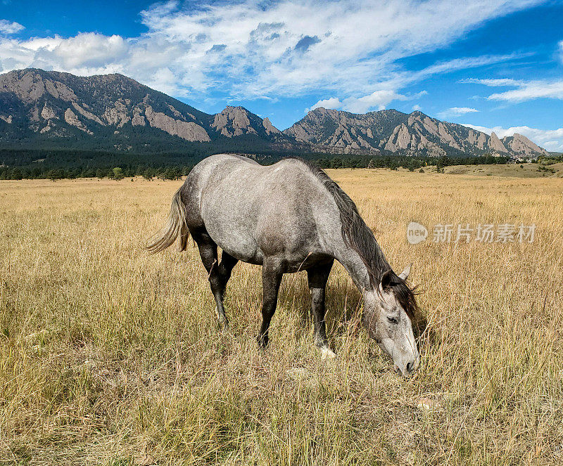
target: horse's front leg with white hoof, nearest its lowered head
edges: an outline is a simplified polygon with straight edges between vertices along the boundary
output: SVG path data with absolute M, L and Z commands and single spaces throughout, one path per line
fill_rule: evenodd
M 309 288 L 311 290 L 311 311 L 315 324 L 315 345 L 322 351 L 323 358 L 334 358 L 334 353 L 327 340 L 327 325 L 324 321 L 326 309 L 324 307 L 324 290 L 327 287 L 329 273 L 334 261 L 329 264 L 316 266 L 307 270 Z

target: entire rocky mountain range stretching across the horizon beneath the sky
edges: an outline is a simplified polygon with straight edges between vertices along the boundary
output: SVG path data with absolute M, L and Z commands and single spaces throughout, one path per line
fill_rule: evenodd
M 419 111 L 315 108 L 279 131 L 246 108 L 228 106 L 208 115 L 123 75 L 78 77 L 38 69 L 0 75 L 0 148 L 548 155 L 521 134 L 500 139 Z

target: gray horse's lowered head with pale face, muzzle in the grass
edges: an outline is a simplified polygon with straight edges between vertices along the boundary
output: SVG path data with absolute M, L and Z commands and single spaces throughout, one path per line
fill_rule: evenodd
M 420 360 L 412 332 L 417 303 L 414 292 L 405 283 L 409 273 L 410 266 L 400 275 L 386 271 L 379 287 L 365 293 L 364 313 L 369 336 L 393 359 L 405 377 L 415 373 Z

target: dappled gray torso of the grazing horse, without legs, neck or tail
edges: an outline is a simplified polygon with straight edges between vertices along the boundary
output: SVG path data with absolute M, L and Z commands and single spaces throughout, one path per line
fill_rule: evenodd
M 303 162 L 286 159 L 263 166 L 246 157 L 213 155 L 190 177 L 190 198 L 198 204 L 205 231 L 237 259 L 302 261 L 303 254 L 320 249 L 315 211 L 322 212 L 330 201 Z

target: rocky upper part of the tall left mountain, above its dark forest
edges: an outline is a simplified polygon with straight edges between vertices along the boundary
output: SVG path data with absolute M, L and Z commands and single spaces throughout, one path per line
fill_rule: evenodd
M 4 105 L 6 104 L 6 105 Z M 0 113 L 47 138 L 103 127 L 152 127 L 185 141 L 210 141 L 209 115 L 120 74 L 77 77 L 36 69 L 0 75 Z M 115 131 L 118 134 L 120 131 Z

